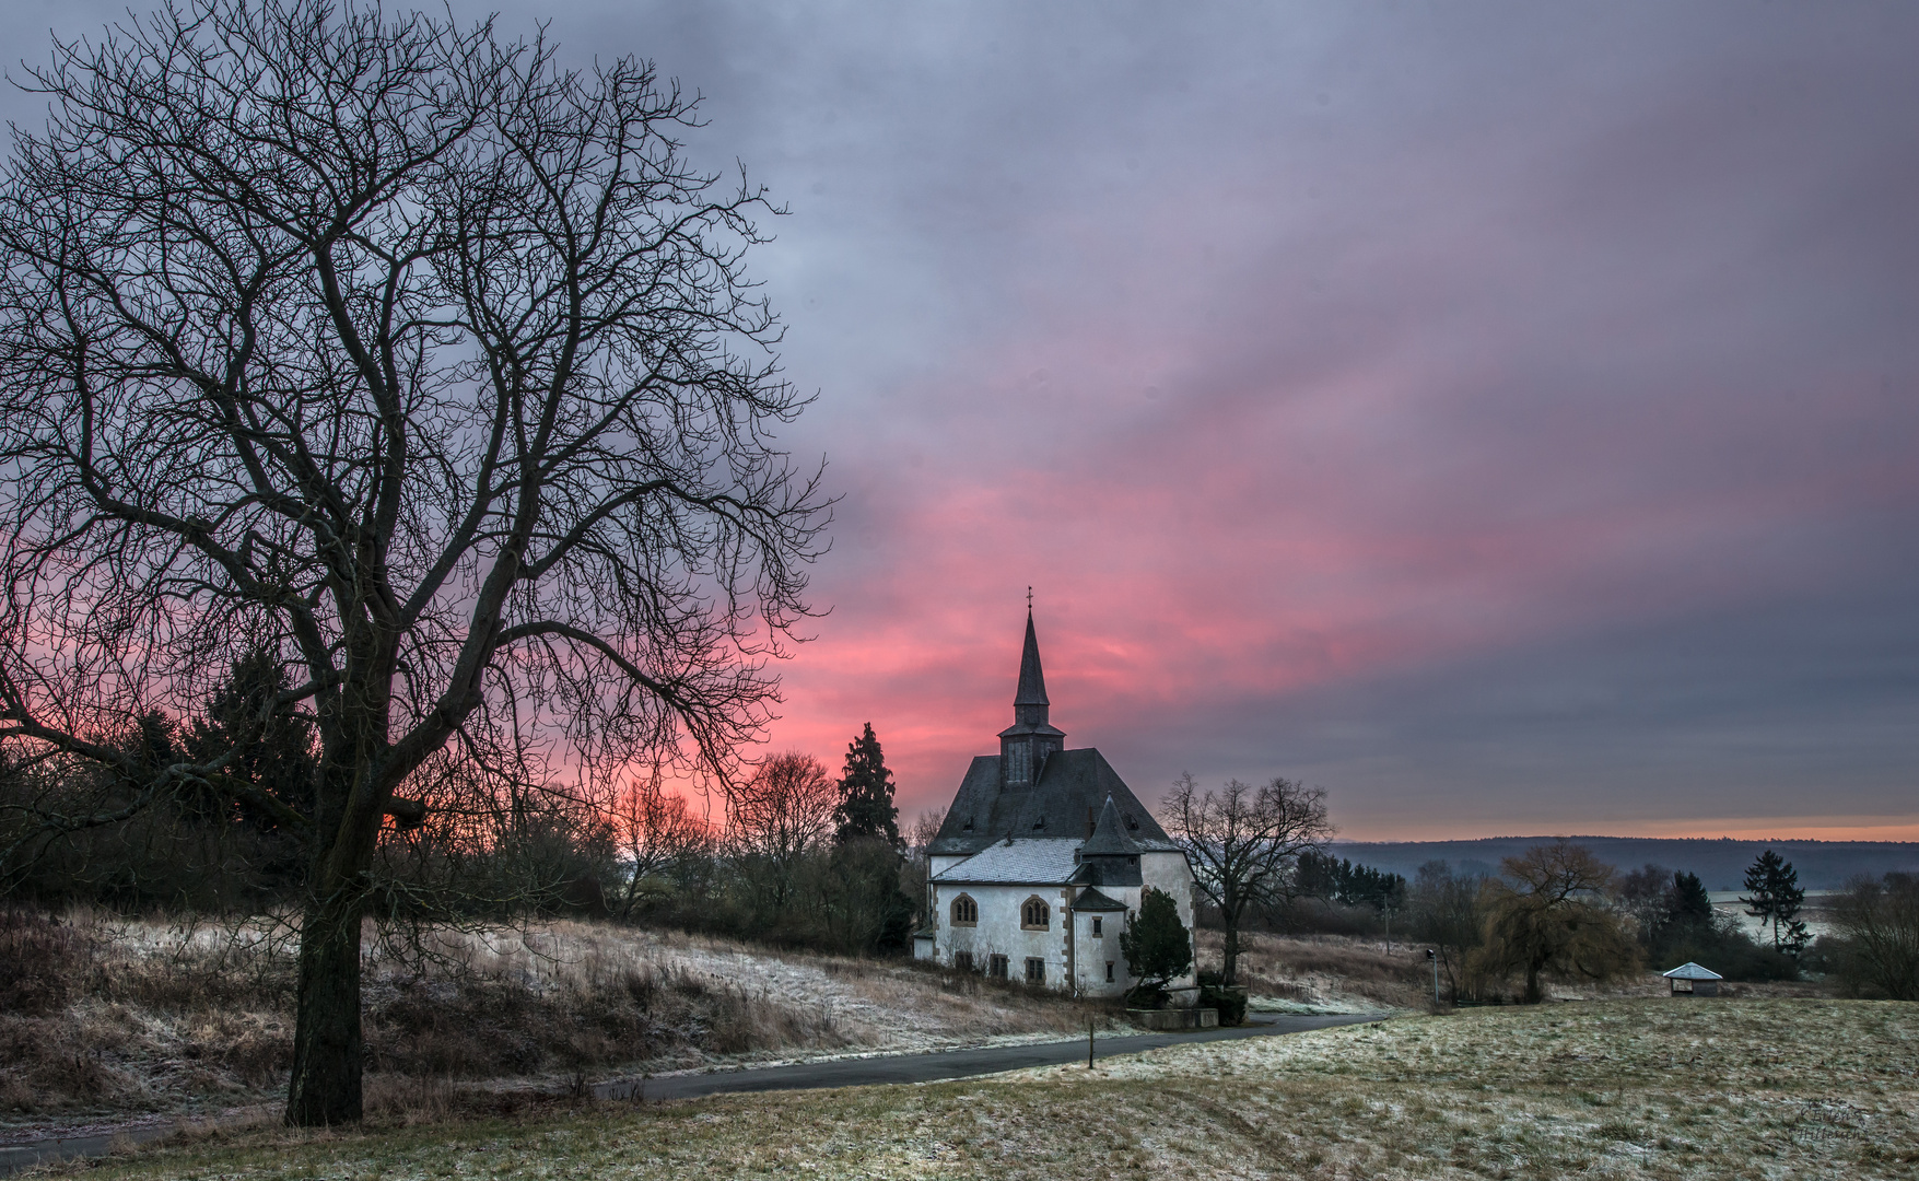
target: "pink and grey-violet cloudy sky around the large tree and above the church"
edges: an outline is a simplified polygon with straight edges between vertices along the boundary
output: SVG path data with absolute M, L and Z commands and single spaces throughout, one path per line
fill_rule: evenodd
M 121 8 L 4 4 L 0 56 Z M 791 207 L 754 271 L 844 499 L 775 749 L 871 720 L 944 805 L 1031 584 L 1054 722 L 1148 799 L 1919 839 L 1919 6 L 535 19 Z

